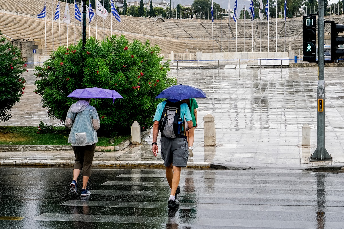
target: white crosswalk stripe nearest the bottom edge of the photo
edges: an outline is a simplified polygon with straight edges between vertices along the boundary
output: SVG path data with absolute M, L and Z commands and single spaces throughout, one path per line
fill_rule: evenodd
M 109 216 L 109 215 L 78 215 L 44 213 L 34 220 L 47 221 L 80 221 L 80 222 L 113 222 L 113 223 L 144 223 L 158 225 L 207 225 L 227 227 L 270 227 L 270 228 L 305 228 L 314 229 L 314 221 L 288 220 L 248 220 L 248 219 L 215 219 L 215 218 L 175 218 L 175 217 L 147 217 L 147 216 Z M 329 228 L 340 228 L 341 222 L 326 222 Z

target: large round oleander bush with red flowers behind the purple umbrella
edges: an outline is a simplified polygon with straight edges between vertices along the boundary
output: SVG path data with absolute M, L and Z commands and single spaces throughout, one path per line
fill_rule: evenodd
M 85 50 L 77 45 L 60 46 L 42 67 L 36 67 L 36 92 L 42 96 L 43 108 L 51 118 L 65 120 L 69 106 L 77 101 L 67 96 L 78 88 L 99 87 L 116 90 L 123 99 L 92 99 L 100 118 L 100 133 L 126 135 L 133 121 L 141 130 L 152 126 L 155 99 L 163 89 L 176 84 L 168 77 L 168 63 L 161 63 L 159 46 L 149 41 L 132 43 L 124 36 L 105 41 L 87 39 Z M 98 132 L 99 132 L 98 131 Z

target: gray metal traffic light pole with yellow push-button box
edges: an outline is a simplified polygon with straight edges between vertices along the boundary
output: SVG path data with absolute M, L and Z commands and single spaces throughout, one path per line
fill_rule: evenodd
M 318 88 L 317 88 L 317 148 L 310 161 L 333 161 L 325 149 L 325 80 L 324 80 L 324 0 L 319 0 L 318 9 Z

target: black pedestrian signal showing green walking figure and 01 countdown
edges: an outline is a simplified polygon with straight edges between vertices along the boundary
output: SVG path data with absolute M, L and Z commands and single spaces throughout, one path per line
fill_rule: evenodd
M 303 60 L 316 62 L 316 15 L 303 16 Z

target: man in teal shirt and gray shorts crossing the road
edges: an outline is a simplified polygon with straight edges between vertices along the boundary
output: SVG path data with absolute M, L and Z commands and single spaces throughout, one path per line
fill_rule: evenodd
M 169 99 L 170 102 L 175 103 L 179 100 Z M 159 122 L 162 116 L 162 112 L 165 108 L 166 101 L 158 104 L 157 110 L 154 115 L 153 124 L 153 142 L 152 151 L 154 156 L 157 156 L 159 147 L 157 144 L 158 132 L 159 132 Z M 184 118 L 187 121 L 188 128 L 192 128 L 192 118 L 190 114 L 189 107 L 186 103 L 180 105 L 180 117 L 182 123 L 184 123 Z M 167 138 L 161 136 L 161 157 L 164 160 L 164 166 L 166 167 L 166 178 L 171 188 L 171 195 L 168 201 L 169 208 L 178 208 L 179 204 L 175 201 L 177 194 L 180 193 L 179 181 L 180 181 L 180 171 L 182 167 L 186 167 L 187 159 L 189 157 L 188 143 L 186 137 L 182 131 L 181 136 L 176 138 Z

